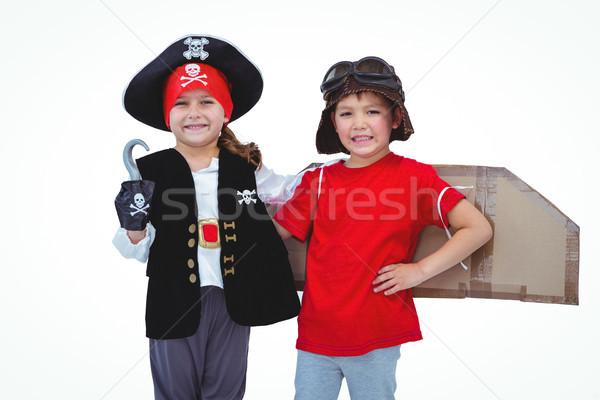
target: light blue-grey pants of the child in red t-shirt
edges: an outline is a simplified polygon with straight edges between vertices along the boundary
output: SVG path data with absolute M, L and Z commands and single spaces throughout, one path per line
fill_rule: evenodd
M 400 346 L 356 357 L 298 350 L 295 400 L 336 400 L 346 378 L 352 400 L 394 400 Z

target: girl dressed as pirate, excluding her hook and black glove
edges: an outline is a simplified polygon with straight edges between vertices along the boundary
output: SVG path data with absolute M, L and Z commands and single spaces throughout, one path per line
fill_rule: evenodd
M 113 239 L 124 257 L 148 261 L 157 399 L 241 399 L 250 326 L 299 312 L 287 251 L 263 203 L 282 204 L 299 178 L 274 174 L 254 143 L 227 127 L 261 93 L 258 68 L 206 35 L 179 39 L 125 89 L 127 112 L 176 142 L 137 160 L 155 183 L 150 222 Z

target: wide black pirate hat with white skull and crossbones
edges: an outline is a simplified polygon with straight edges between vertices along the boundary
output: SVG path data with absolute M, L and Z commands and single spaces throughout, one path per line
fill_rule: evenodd
M 210 65 L 226 76 L 233 102 L 230 122 L 260 99 L 260 70 L 237 47 L 214 36 L 189 35 L 171 44 L 133 77 L 123 92 L 125 110 L 146 125 L 169 131 L 163 112 L 164 84 L 177 67 L 188 63 Z

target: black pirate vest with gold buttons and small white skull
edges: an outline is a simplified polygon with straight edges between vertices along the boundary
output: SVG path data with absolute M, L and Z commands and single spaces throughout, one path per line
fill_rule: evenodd
M 150 221 L 156 238 L 148 258 L 146 335 L 193 335 L 200 321 L 198 226 L 194 180 L 174 149 L 137 160 L 156 183 Z M 240 325 L 268 325 L 298 315 L 300 302 L 287 250 L 257 196 L 255 168 L 225 150 L 219 154 L 221 273 L 227 310 Z

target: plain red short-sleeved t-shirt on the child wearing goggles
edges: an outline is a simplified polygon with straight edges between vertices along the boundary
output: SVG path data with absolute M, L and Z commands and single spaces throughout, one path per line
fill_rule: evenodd
M 364 168 L 325 167 L 317 195 L 320 172 L 305 173 L 275 215 L 302 241 L 312 228 L 296 347 L 357 356 L 422 339 L 412 291 L 385 296 L 372 283 L 381 267 L 412 260 L 426 225 L 442 227 L 437 200 L 449 185 L 433 167 L 393 153 Z M 444 218 L 463 197 L 444 193 Z

